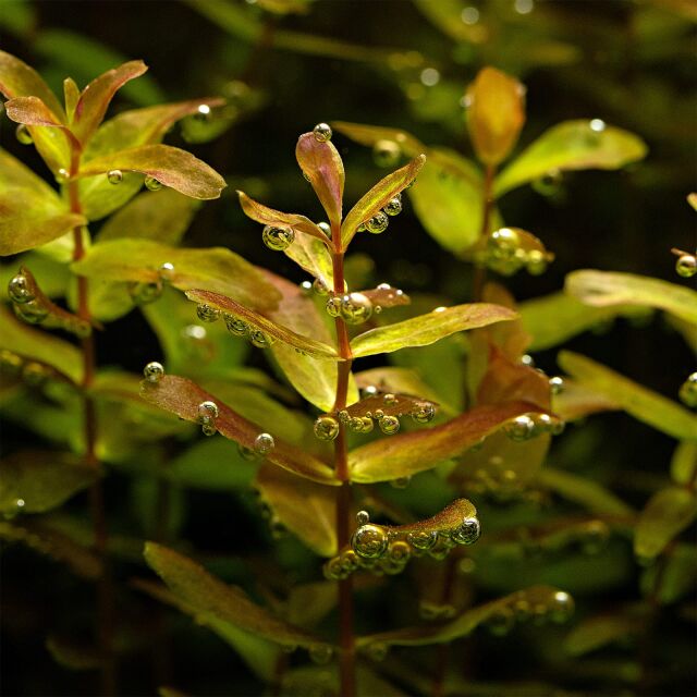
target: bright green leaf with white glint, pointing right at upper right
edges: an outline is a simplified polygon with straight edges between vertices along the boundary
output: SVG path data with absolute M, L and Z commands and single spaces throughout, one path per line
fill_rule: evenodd
M 546 131 L 499 176 L 497 197 L 533 182 L 549 172 L 564 170 L 614 170 L 646 156 L 647 147 L 638 136 L 594 121 L 564 121 Z

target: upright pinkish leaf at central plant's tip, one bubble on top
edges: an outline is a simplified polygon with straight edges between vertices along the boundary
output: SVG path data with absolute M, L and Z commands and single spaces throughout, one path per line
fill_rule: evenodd
M 295 157 L 313 185 L 332 230 L 341 224 L 344 196 L 344 164 L 330 140 L 320 143 L 314 133 L 304 133 L 297 140 Z

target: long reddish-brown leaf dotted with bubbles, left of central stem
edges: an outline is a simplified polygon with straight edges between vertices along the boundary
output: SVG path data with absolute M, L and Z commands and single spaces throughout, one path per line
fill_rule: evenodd
M 176 414 L 187 421 L 199 423 L 198 405 L 212 401 L 218 405 L 219 415 L 215 419 L 220 433 L 240 445 L 254 450 L 254 442 L 262 429 L 243 418 L 220 400 L 201 390 L 195 382 L 178 376 L 163 376 L 159 382 L 142 382 L 143 396 L 152 404 Z M 273 436 L 273 433 L 271 433 Z M 327 464 L 290 443 L 274 437 L 276 447 L 266 455 L 269 462 L 301 477 L 339 486 L 334 472 Z

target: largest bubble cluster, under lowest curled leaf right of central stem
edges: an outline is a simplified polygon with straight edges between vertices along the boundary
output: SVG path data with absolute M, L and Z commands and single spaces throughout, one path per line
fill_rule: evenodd
M 325 564 L 329 580 L 347 578 L 365 568 L 376 575 L 395 575 L 413 557 L 428 554 L 443 560 L 458 545 L 473 545 L 479 539 L 481 526 L 474 516 L 465 516 L 452 527 L 386 526 L 370 523 L 367 511 L 356 514 L 358 527 L 351 546 Z

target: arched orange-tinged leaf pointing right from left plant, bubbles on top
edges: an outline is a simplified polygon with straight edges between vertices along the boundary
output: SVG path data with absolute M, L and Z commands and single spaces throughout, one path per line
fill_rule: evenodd
M 227 186 L 211 167 L 191 152 L 169 145 L 143 145 L 97 157 L 83 166 L 80 175 L 106 175 L 110 170 L 143 172 L 192 198 L 218 198 Z

